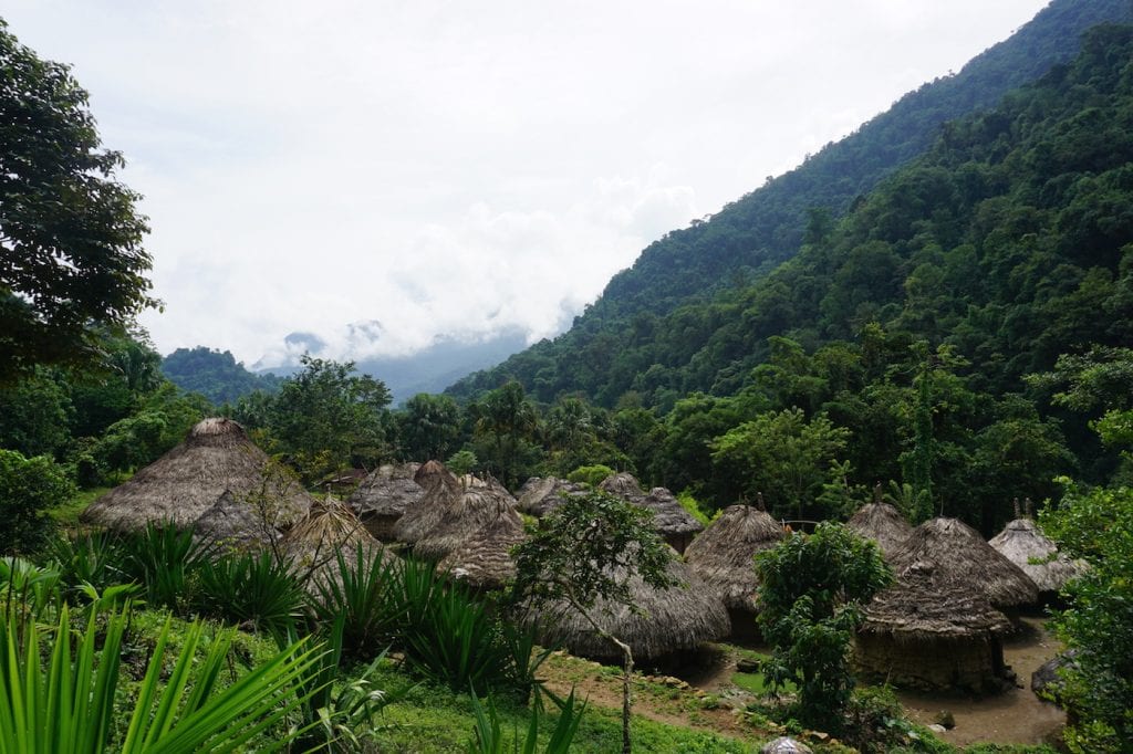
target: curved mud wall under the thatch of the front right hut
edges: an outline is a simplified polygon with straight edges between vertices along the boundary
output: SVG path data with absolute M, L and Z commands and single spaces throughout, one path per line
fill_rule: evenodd
M 895 686 L 994 693 L 1003 688 L 1003 646 L 988 636 L 964 640 L 894 641 L 859 634 L 854 661 L 863 675 Z

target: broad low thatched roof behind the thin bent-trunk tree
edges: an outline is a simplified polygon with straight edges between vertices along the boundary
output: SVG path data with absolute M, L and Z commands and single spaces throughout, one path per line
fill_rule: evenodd
M 726 636 L 731 631 L 724 603 L 705 589 L 675 552 L 668 572 L 682 585 L 656 590 L 638 576 L 630 580 L 638 611 L 603 600 L 594 607 L 593 615 L 598 625 L 628 643 L 634 658 L 647 659 L 691 650 L 704 642 Z M 539 622 L 544 642 L 562 641 L 573 654 L 621 657 L 617 646 L 594 633 L 586 618 L 569 606 L 534 611 L 529 619 Z

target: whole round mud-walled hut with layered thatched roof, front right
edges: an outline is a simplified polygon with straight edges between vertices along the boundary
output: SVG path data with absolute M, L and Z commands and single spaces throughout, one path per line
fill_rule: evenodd
M 1011 622 L 939 565 L 914 562 L 866 607 L 854 659 L 898 686 L 977 693 L 1010 686 L 1000 636 Z

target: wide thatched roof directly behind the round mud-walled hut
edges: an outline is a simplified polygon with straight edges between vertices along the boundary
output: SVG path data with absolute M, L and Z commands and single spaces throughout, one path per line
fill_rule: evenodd
M 926 521 L 889 555 L 889 564 L 897 573 L 914 563 L 931 566 L 940 583 L 955 582 L 982 592 L 995 607 L 1030 605 L 1039 599 L 1034 582 L 1019 566 L 957 519 Z

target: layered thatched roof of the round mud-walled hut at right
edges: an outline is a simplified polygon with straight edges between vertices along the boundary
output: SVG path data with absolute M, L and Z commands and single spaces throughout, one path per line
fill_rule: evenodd
M 918 560 L 866 607 L 861 631 L 895 641 L 962 640 L 1011 631 L 1011 622 L 978 590 L 939 565 Z

